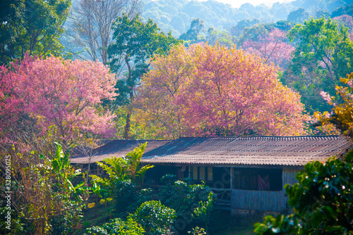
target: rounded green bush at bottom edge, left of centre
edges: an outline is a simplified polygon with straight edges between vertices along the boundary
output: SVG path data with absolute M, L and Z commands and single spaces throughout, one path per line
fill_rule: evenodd
M 175 217 L 175 210 L 167 208 L 160 201 L 147 201 L 128 218 L 141 224 L 146 234 L 167 234 Z

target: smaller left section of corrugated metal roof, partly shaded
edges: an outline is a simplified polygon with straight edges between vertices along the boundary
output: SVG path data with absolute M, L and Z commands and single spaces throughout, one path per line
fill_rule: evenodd
M 115 139 L 109 141 L 107 144 L 95 148 L 93 150 L 91 163 L 101 161 L 104 158 L 111 158 L 112 156 L 124 157 L 126 153 L 133 151 L 133 148 L 138 147 L 140 144 L 148 142 L 145 153 L 152 151 L 152 149 L 158 148 L 164 144 L 170 142 L 170 140 L 136 140 L 136 139 Z M 71 157 L 71 163 L 88 163 L 89 158 L 83 154 L 76 154 Z

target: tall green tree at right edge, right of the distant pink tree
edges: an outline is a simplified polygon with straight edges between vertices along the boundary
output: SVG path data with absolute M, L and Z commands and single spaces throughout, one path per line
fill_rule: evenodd
M 339 27 L 330 18 L 311 18 L 293 27 L 288 37 L 296 43 L 296 49 L 282 82 L 301 93 L 309 111 L 330 109 L 319 94 L 335 94 L 340 77 L 352 71 L 353 43 L 348 28 Z

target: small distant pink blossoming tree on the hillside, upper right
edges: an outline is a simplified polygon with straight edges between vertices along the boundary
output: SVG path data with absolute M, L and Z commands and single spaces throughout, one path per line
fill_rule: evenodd
M 258 34 L 256 39 L 246 40 L 242 48 L 263 58 L 264 63 L 274 63 L 285 69 L 291 59 L 294 47 L 288 44 L 286 32 L 274 28 L 266 34 Z

